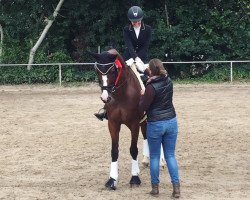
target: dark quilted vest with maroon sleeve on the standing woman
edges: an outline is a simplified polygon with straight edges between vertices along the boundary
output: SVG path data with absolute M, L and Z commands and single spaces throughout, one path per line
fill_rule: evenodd
M 168 76 L 157 77 L 149 82 L 139 107 L 142 111 L 146 111 L 149 122 L 176 117 L 171 79 Z

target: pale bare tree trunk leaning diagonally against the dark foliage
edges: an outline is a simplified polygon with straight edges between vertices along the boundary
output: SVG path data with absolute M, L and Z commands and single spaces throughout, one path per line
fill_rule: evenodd
M 42 43 L 43 39 L 45 38 L 49 28 L 51 27 L 51 25 L 53 24 L 53 22 L 55 21 L 55 18 L 63 4 L 64 0 L 60 0 L 59 3 L 57 4 L 56 6 L 56 9 L 53 13 L 53 16 L 52 16 L 52 19 L 47 19 L 46 22 L 47 22 L 47 25 L 45 26 L 42 34 L 40 35 L 40 38 L 37 40 L 35 46 L 32 47 L 32 49 L 30 50 L 30 55 L 29 55 L 29 64 L 27 66 L 27 69 L 30 70 L 31 69 L 31 66 L 33 64 L 33 61 L 34 61 L 34 56 L 35 56 L 35 53 L 38 49 L 38 47 L 40 46 L 40 44 Z

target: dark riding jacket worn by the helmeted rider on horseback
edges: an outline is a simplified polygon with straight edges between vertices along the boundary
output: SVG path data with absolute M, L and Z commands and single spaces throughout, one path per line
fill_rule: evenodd
M 132 25 L 123 29 L 123 38 L 125 41 L 124 60 L 139 57 L 144 63 L 148 62 L 148 47 L 152 36 L 150 26 L 142 23 L 138 38 Z

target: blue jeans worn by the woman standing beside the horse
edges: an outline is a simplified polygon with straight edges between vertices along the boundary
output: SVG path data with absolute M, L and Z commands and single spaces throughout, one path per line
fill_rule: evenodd
M 158 184 L 160 171 L 161 144 L 172 183 L 179 183 L 179 170 L 175 158 L 175 145 L 178 135 L 177 119 L 147 123 L 147 138 L 150 151 L 151 183 Z

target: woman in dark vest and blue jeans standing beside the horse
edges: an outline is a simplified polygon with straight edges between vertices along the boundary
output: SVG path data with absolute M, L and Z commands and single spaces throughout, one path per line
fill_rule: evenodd
M 140 100 L 141 112 L 147 113 L 147 138 L 150 151 L 150 176 L 153 196 L 159 195 L 159 161 L 161 144 L 173 184 L 174 198 L 180 197 L 178 164 L 175 146 L 178 124 L 173 106 L 173 84 L 159 59 L 149 62 L 151 77 Z

